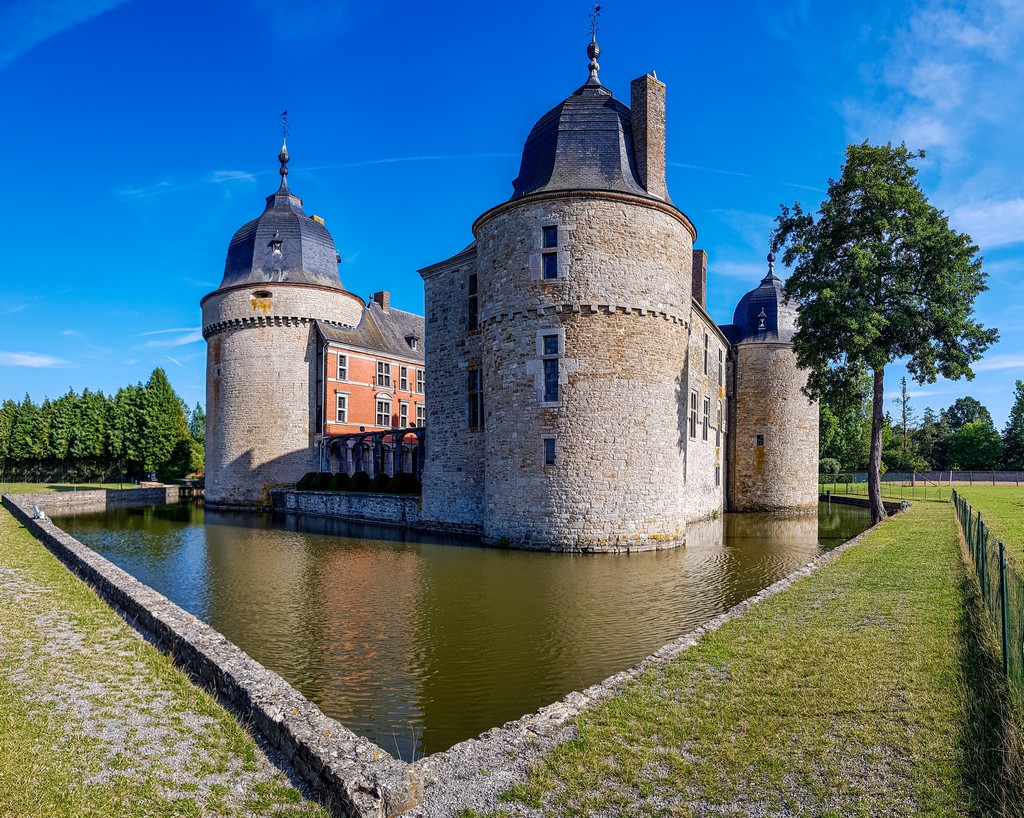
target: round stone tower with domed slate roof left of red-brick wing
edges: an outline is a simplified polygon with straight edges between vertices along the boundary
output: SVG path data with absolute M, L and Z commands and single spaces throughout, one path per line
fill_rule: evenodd
M 231 239 L 220 287 L 206 296 L 206 502 L 265 506 L 268 489 L 317 468 L 315 321 L 358 324 L 362 301 L 338 277 L 324 223 L 281 186 Z

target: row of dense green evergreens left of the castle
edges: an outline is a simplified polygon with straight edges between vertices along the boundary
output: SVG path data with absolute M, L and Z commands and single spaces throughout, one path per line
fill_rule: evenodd
M 0 405 L 2 479 L 180 479 L 203 469 L 205 427 L 203 407 L 189 412 L 161 369 L 113 396 L 71 389 L 37 405 L 26 395 Z

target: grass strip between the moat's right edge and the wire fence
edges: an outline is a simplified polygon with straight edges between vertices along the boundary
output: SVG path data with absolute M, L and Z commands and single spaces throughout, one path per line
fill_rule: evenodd
M 983 622 L 952 508 L 918 503 L 580 717 L 490 814 L 1022 815 Z

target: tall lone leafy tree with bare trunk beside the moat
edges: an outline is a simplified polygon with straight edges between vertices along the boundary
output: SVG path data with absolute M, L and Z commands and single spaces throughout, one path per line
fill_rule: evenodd
M 793 266 L 787 297 L 800 307 L 794 349 L 810 371 L 807 391 L 869 373 L 871 517 L 882 505 L 886 367 L 903 360 L 918 383 L 973 378 L 971 363 L 997 339 L 974 319 L 985 287 L 978 247 L 929 204 L 905 145 L 851 144 L 817 218 L 782 206 L 772 235 Z

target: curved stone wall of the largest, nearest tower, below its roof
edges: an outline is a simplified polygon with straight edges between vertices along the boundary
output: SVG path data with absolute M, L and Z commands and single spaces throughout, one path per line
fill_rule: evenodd
M 558 228 L 558 277 L 542 235 Z M 656 548 L 685 529 L 679 393 L 692 231 L 612 195 L 552 196 L 474 225 L 487 412 L 484 537 L 569 550 Z M 543 338 L 558 336 L 559 399 Z M 545 465 L 545 438 L 555 463 Z

